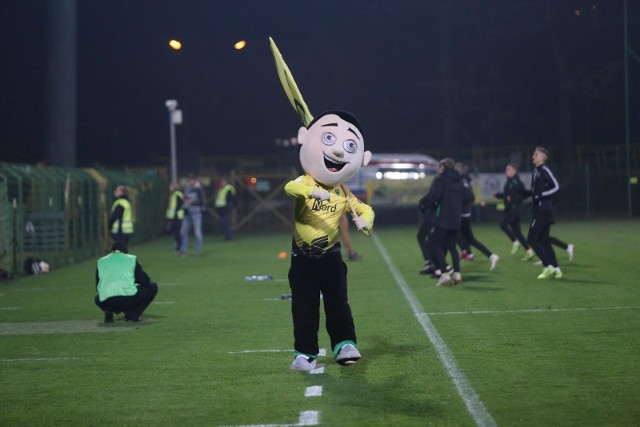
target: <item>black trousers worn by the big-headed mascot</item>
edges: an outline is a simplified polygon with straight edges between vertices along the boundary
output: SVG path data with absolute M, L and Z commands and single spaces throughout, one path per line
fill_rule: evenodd
M 357 342 L 347 299 L 347 265 L 340 252 L 317 259 L 292 256 L 289 285 L 295 351 L 308 356 L 319 352 L 320 292 L 331 349 L 342 341 Z

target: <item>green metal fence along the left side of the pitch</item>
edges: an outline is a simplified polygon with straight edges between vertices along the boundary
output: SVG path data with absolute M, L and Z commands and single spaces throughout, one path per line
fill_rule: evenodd
M 117 171 L 0 163 L 0 269 L 25 272 L 32 258 L 52 268 L 104 253 L 113 190 L 126 185 L 133 243 L 163 233 L 167 180 L 154 169 Z

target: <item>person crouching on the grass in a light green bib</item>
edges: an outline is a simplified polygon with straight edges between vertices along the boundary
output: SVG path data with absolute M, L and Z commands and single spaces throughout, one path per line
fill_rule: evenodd
M 122 241 L 115 242 L 111 253 L 98 260 L 96 289 L 95 303 L 104 311 L 105 323 L 113 322 L 114 313 L 124 313 L 128 322 L 140 322 L 142 312 L 158 293 L 158 285 Z

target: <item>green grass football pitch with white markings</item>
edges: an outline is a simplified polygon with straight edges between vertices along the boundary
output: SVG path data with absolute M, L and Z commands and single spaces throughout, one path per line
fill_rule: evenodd
M 638 221 L 561 222 L 576 255 L 558 250 L 564 278 L 549 281 L 496 224 L 475 226 L 501 261 L 489 271 L 477 252 L 455 288 L 418 275 L 416 231 L 352 232 L 363 359 L 335 364 L 321 328 L 317 374 L 288 369 L 289 232 L 205 236 L 199 257 L 169 238 L 133 246 L 160 289 L 135 326 L 102 323 L 95 260 L 1 282 L 0 425 L 640 424 Z

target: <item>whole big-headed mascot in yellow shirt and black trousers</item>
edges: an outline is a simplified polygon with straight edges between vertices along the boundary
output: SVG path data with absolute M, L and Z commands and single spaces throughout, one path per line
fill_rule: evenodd
M 298 131 L 298 144 L 305 174 L 284 187 L 295 201 L 289 269 L 295 340 L 291 369 L 316 367 L 321 293 L 335 360 L 352 365 L 362 356 L 347 299 L 347 266 L 342 261 L 338 224 L 349 212 L 358 230 L 370 233 L 373 209 L 343 184 L 369 163 L 371 153 L 364 150 L 362 127 L 353 115 L 345 111 L 311 115 L 280 51 L 269 40 L 280 82 L 304 125 Z

